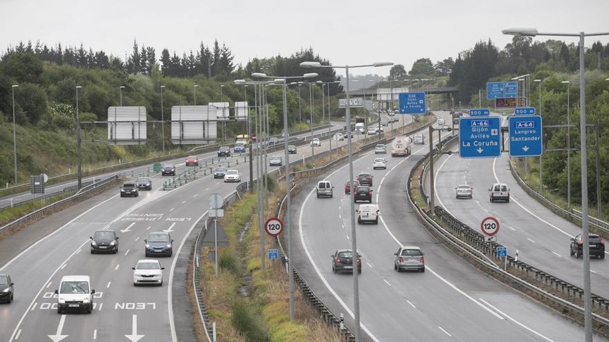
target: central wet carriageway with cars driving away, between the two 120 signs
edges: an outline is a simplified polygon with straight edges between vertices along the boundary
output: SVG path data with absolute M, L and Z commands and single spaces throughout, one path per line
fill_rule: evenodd
M 441 113 L 450 120 L 447 114 Z M 406 176 L 428 145 L 413 151 L 408 158 L 387 155 L 386 171 L 372 170 L 379 157 L 373 151 L 354 160 L 354 175 L 374 175 L 373 202 L 381 212 L 379 225 L 357 225 L 363 341 L 580 341 L 581 327 L 480 273 L 428 234 L 406 202 Z M 318 180 L 332 182 L 334 198 L 314 196 Z M 294 198 L 291 219 L 298 223 L 293 263 L 352 326 L 352 274 L 333 274 L 330 258 L 352 244 L 347 180 L 346 166 L 311 180 Z M 394 271 L 400 245 L 421 247 L 426 272 Z

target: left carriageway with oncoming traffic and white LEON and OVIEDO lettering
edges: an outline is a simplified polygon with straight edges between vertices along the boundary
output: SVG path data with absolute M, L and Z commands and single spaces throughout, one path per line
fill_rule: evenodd
M 316 153 L 327 149 L 324 141 Z M 300 146 L 290 160 L 310 154 L 309 146 Z M 199 159 L 209 156 L 199 155 Z M 177 173 L 187 169 L 183 161 L 177 167 Z M 248 168 L 248 163 L 235 167 L 244 182 L 248 180 Z M 275 169 L 268 167 L 269 171 Z M 235 184 L 208 175 L 172 191 L 162 191 L 161 175 L 152 175 L 152 179 L 154 189 L 140 191 L 138 198 L 120 198 L 118 189 L 109 190 L 0 241 L 0 273 L 8 272 L 15 282 L 15 301 L 0 304 L 0 341 L 194 339 L 192 331 L 176 329 L 192 330 L 194 323 L 187 312 L 190 303 L 176 297 L 176 292 L 183 293 L 188 285 L 185 279 L 172 275 L 180 254 L 190 254 L 185 241 L 196 234 L 194 225 L 205 215 L 210 194 L 228 196 Z M 118 254 L 89 253 L 89 236 L 96 229 L 116 231 L 120 238 Z M 145 258 L 143 240 L 150 231 L 163 230 L 170 231 L 174 239 L 174 255 L 159 258 L 165 267 L 163 286 L 134 287 L 131 267 Z M 91 276 L 96 294 L 90 315 L 57 314 L 54 291 L 62 276 L 72 274 Z M 185 310 L 174 309 L 179 305 L 185 305 Z

